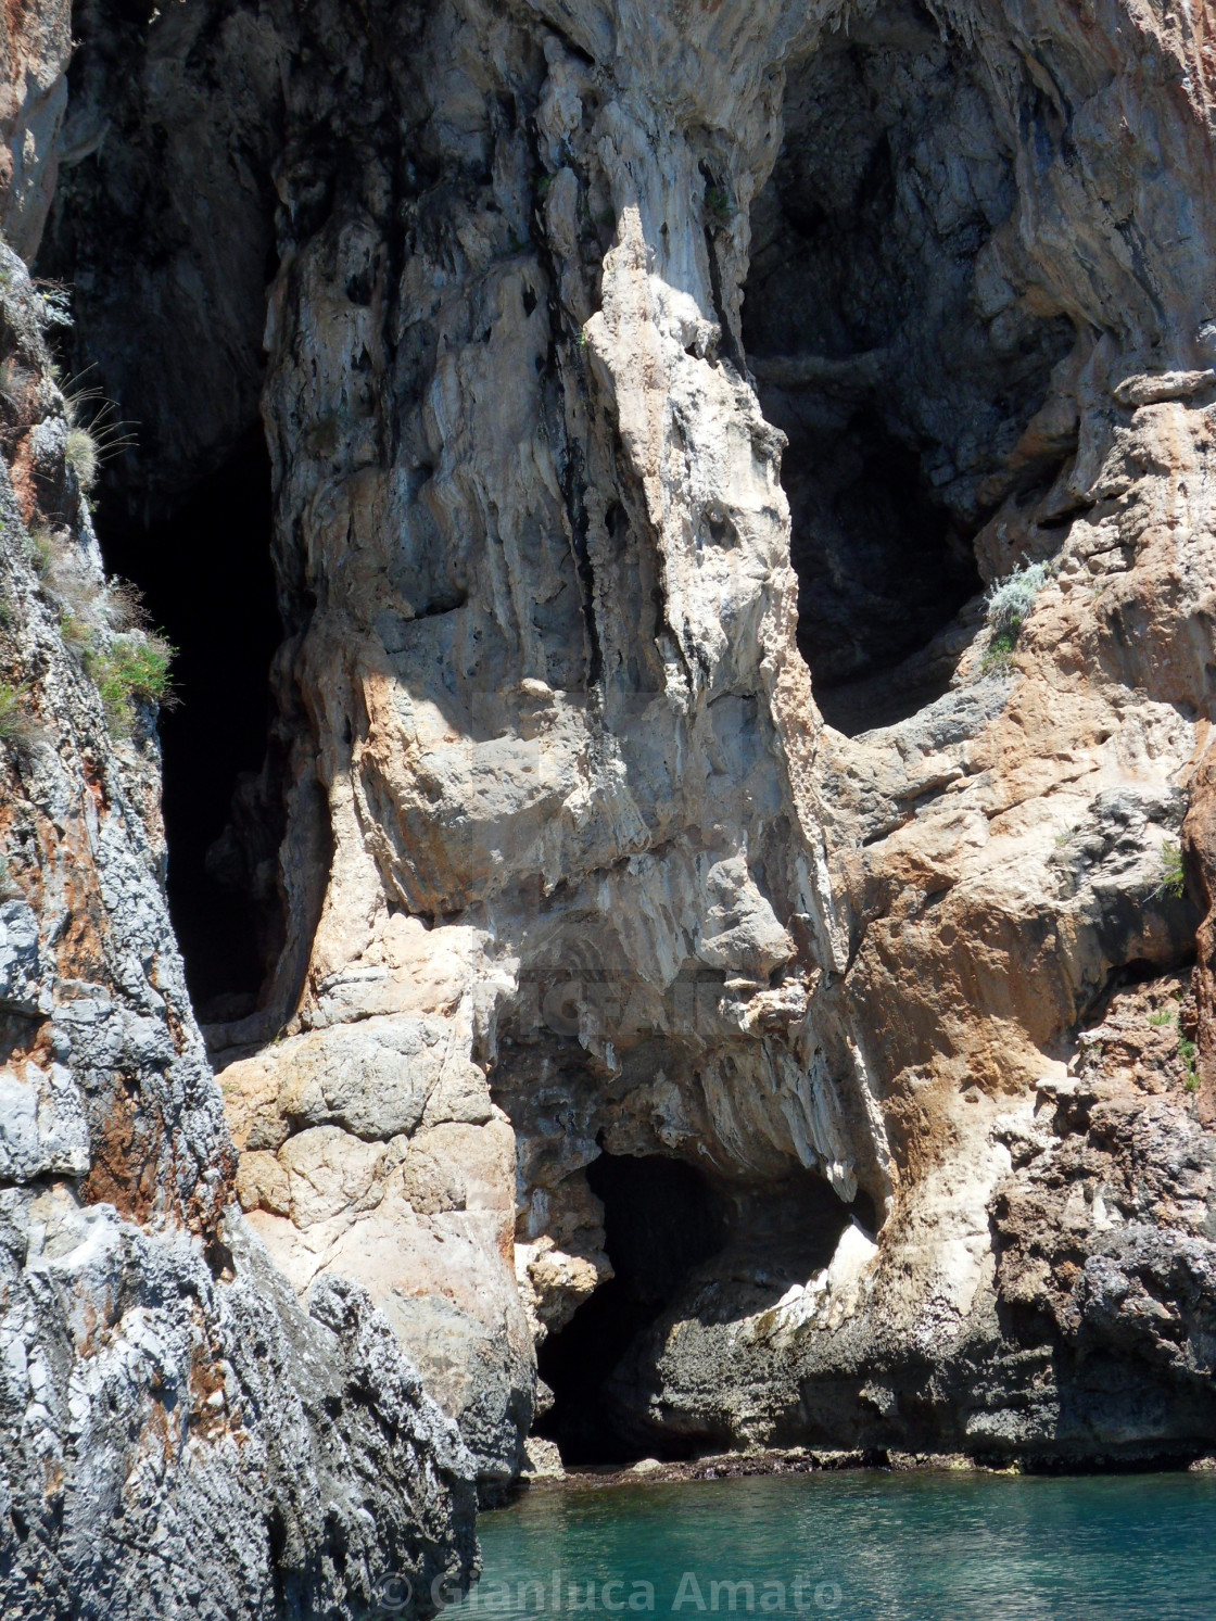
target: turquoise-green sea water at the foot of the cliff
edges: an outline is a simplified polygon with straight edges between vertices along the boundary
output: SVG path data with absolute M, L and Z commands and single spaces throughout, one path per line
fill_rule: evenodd
M 1216 1477 L 880 1472 L 537 1490 L 478 1616 L 1216 1621 Z M 715 1585 L 717 1584 L 717 1585 Z

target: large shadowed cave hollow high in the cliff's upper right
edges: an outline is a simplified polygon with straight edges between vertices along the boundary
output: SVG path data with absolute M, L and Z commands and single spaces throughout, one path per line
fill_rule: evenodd
M 947 691 L 983 621 L 974 537 L 1073 329 L 1018 290 L 983 65 L 916 0 L 794 63 L 783 117 L 743 336 L 788 439 L 799 650 L 825 720 L 856 734 Z

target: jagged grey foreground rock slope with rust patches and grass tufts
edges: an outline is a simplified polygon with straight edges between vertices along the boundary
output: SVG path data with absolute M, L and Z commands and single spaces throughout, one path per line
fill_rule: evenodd
M 366 1294 L 305 1307 L 240 1214 L 154 713 L 92 679 L 130 595 L 54 313 L 0 248 L 0 1611 L 353 1618 L 399 1577 L 431 1613 L 475 1558 L 472 1459 Z

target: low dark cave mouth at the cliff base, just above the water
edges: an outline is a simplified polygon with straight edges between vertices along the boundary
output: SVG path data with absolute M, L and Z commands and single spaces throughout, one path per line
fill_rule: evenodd
M 556 1441 L 567 1467 L 687 1459 L 728 1444 L 710 1426 L 649 1423 L 623 1405 L 614 1376 L 689 1285 L 725 1279 L 739 1316 L 775 1305 L 829 1264 L 854 1216 L 874 1230 L 872 1201 L 859 1193 L 846 1206 L 811 1172 L 736 1185 L 660 1154 L 605 1151 L 587 1167 L 587 1182 L 603 1203 L 614 1276 L 540 1345 L 538 1373 L 553 1405 L 535 1433 Z

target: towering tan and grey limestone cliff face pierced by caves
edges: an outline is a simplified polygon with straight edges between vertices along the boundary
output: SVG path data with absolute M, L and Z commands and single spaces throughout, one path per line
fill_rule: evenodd
M 206 1034 L 285 1277 L 485 1490 L 537 1422 L 1206 1449 L 1206 13 L 78 26 L 42 263 L 128 499 L 261 383 Z

